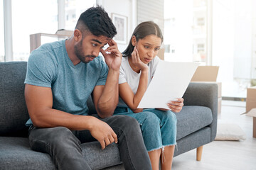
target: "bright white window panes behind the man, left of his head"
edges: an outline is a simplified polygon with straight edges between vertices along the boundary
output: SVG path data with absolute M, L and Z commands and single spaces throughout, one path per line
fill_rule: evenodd
M 11 2 L 13 60 L 27 61 L 30 54 L 30 35 L 36 33 L 55 34 L 58 30 L 58 0 L 12 0 Z M 65 0 L 65 16 L 63 16 L 65 17 L 65 28 L 61 29 L 74 30 L 80 13 L 95 4 L 95 0 Z M 53 40 L 56 39 L 43 37 L 41 44 Z M 1 45 L 1 48 L 2 46 L 4 45 Z

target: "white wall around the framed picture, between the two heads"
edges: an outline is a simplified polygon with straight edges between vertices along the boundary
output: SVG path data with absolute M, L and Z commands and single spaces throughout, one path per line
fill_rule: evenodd
M 127 43 L 118 43 L 118 49 L 123 52 L 127 47 L 132 35 L 132 31 L 137 25 L 137 8 L 136 0 L 98 0 L 97 3 L 105 8 L 105 11 L 112 18 L 112 13 L 116 13 L 122 16 L 127 16 Z

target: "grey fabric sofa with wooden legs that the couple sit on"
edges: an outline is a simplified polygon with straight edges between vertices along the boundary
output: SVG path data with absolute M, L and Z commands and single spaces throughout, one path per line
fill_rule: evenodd
M 0 63 L 0 169 L 55 169 L 48 154 L 34 152 L 28 144 L 25 76 L 26 62 Z M 178 149 L 174 156 L 214 140 L 217 91 L 216 84 L 189 84 L 183 96 L 185 106 L 176 113 Z M 88 105 L 90 112 L 94 112 L 92 101 Z M 115 144 L 102 150 L 98 142 L 89 142 L 82 144 L 82 152 L 92 169 L 124 169 Z M 201 154 L 198 155 L 200 159 Z

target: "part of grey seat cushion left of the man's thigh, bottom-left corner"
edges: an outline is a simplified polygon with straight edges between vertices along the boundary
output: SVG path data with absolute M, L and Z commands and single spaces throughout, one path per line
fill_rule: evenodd
M 55 169 L 49 154 L 34 152 L 25 137 L 0 137 L 1 169 Z

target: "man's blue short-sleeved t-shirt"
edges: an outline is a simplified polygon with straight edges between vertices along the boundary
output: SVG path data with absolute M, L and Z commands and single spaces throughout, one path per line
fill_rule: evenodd
M 108 67 L 101 56 L 74 65 L 65 40 L 41 45 L 28 59 L 25 84 L 50 87 L 53 108 L 74 115 L 87 115 L 87 99 L 95 86 L 105 85 Z M 32 125 L 29 119 L 26 125 Z

